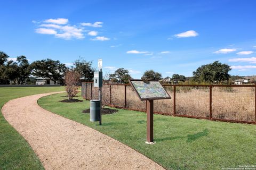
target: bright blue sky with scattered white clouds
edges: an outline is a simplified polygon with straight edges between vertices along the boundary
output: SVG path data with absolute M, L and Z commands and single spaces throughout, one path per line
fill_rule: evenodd
M 256 1 L 0 1 L 0 50 L 69 65 L 79 56 L 133 78 L 227 63 L 256 74 Z

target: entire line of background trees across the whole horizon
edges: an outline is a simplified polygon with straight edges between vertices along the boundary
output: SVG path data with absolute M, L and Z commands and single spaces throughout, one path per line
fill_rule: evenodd
M 0 84 L 29 84 L 31 77 L 42 77 L 52 80 L 54 83 L 58 83 L 65 77 L 65 73 L 68 70 L 76 71 L 80 75 L 80 79 L 83 81 L 92 81 L 93 72 L 96 70 L 93 68 L 91 61 L 83 60 L 79 58 L 73 62 L 73 66 L 67 67 L 60 61 L 54 61 L 49 58 L 46 60 L 38 60 L 29 64 L 26 56 L 18 56 L 16 61 L 8 60 L 9 56 L 0 51 Z M 193 72 L 193 77 L 186 78 L 184 75 L 173 74 L 171 80 L 187 80 L 190 84 L 221 84 L 229 83 L 234 79 L 230 77 L 230 66 L 222 64 L 219 61 L 215 61 L 210 64 L 202 65 Z M 30 77 L 30 79 L 29 79 Z M 129 70 L 124 68 L 117 69 L 114 73 L 109 73 L 105 76 L 105 81 L 128 83 L 129 79 L 132 79 L 129 74 Z M 161 80 L 162 74 L 155 72 L 154 70 L 147 70 L 143 73 L 142 80 Z

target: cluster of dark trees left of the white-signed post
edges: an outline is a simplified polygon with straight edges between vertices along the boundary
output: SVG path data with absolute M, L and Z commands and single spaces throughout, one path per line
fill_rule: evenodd
M 60 61 L 49 58 L 46 60 L 34 61 L 31 64 L 26 56 L 18 56 L 16 61 L 8 60 L 9 56 L 0 51 L 0 84 L 32 84 L 31 77 L 42 77 L 50 79 L 54 83 L 62 80 L 68 70 L 79 73 L 80 79 L 92 81 L 92 62 L 87 62 L 79 58 L 71 67 L 67 67 Z

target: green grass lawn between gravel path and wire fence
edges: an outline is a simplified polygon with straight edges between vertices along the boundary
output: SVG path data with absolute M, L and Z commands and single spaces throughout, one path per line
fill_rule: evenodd
M 90 126 L 138 150 L 167 169 L 221 169 L 256 164 L 256 125 L 154 115 L 155 145 L 146 145 L 146 114 L 118 109 L 90 122 L 89 101 L 60 103 L 63 94 L 38 100 L 43 108 Z M 78 97 L 81 99 L 81 97 Z

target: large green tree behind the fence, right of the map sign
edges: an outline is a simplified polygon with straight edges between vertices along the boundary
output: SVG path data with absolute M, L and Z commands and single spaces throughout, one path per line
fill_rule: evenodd
M 219 61 L 215 61 L 211 64 L 206 64 L 198 67 L 193 72 L 193 80 L 196 82 L 206 83 L 222 83 L 228 81 L 230 75 L 228 72 L 231 70 L 228 64 L 222 64 Z

